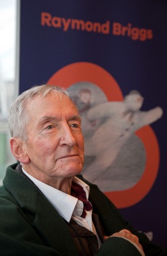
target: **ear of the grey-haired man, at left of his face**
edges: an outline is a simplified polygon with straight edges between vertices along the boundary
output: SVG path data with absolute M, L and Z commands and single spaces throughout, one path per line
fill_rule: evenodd
M 29 163 L 30 158 L 24 150 L 24 141 L 21 138 L 10 138 L 10 150 L 14 157 L 21 163 Z

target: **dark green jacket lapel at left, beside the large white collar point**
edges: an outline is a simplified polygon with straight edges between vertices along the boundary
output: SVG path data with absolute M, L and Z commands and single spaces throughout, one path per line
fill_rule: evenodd
M 3 184 L 13 195 L 24 215 L 32 222 L 34 230 L 40 234 L 47 246 L 55 248 L 62 255 L 77 256 L 77 249 L 63 218 L 35 184 L 16 172 L 14 167 L 16 166 L 7 169 Z

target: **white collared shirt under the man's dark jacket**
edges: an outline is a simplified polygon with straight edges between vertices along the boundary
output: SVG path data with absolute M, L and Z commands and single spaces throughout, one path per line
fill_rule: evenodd
M 73 219 L 75 222 L 77 222 L 78 225 L 86 227 L 86 229 L 95 233 L 100 247 L 101 241 L 92 222 L 92 210 L 86 211 L 86 217 L 82 218 L 82 201 L 78 200 L 78 198 L 75 198 L 72 195 L 68 195 L 63 191 L 55 189 L 55 187 L 51 187 L 48 184 L 45 184 L 40 180 L 35 179 L 23 168 L 22 170 L 23 173 L 27 175 L 32 180 L 32 182 L 34 182 L 38 189 L 41 190 L 41 192 L 45 195 L 50 204 L 52 204 L 53 207 L 55 207 L 57 212 L 59 212 L 59 214 L 64 219 L 66 219 L 67 222 L 70 222 L 70 219 Z M 88 200 L 89 185 L 86 184 L 85 182 L 82 182 L 82 180 L 78 179 L 78 177 L 74 177 L 73 181 L 83 187 L 83 190 L 85 190 L 86 193 L 86 198 Z

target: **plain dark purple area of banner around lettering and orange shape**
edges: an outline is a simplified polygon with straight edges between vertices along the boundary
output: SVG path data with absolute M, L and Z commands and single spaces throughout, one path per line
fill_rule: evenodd
M 153 241 L 166 247 L 166 1 L 20 1 L 20 93 L 47 82 L 62 67 L 75 62 L 92 62 L 107 70 L 124 95 L 134 88 L 146 101 L 143 111 L 161 106 L 164 115 L 153 128 L 159 142 L 160 166 L 154 186 L 133 207 L 121 209 L 137 230 L 153 232 Z M 41 12 L 66 19 L 105 23 L 110 34 L 90 33 L 41 26 Z M 112 23 L 153 30 L 153 39 L 140 41 L 113 35 Z

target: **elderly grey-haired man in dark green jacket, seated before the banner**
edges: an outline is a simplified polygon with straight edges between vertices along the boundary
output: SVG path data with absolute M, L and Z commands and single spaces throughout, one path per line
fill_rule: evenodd
M 9 129 L 17 163 L 0 190 L 1 256 L 167 255 L 79 175 L 81 118 L 65 90 L 43 85 L 21 94 Z

